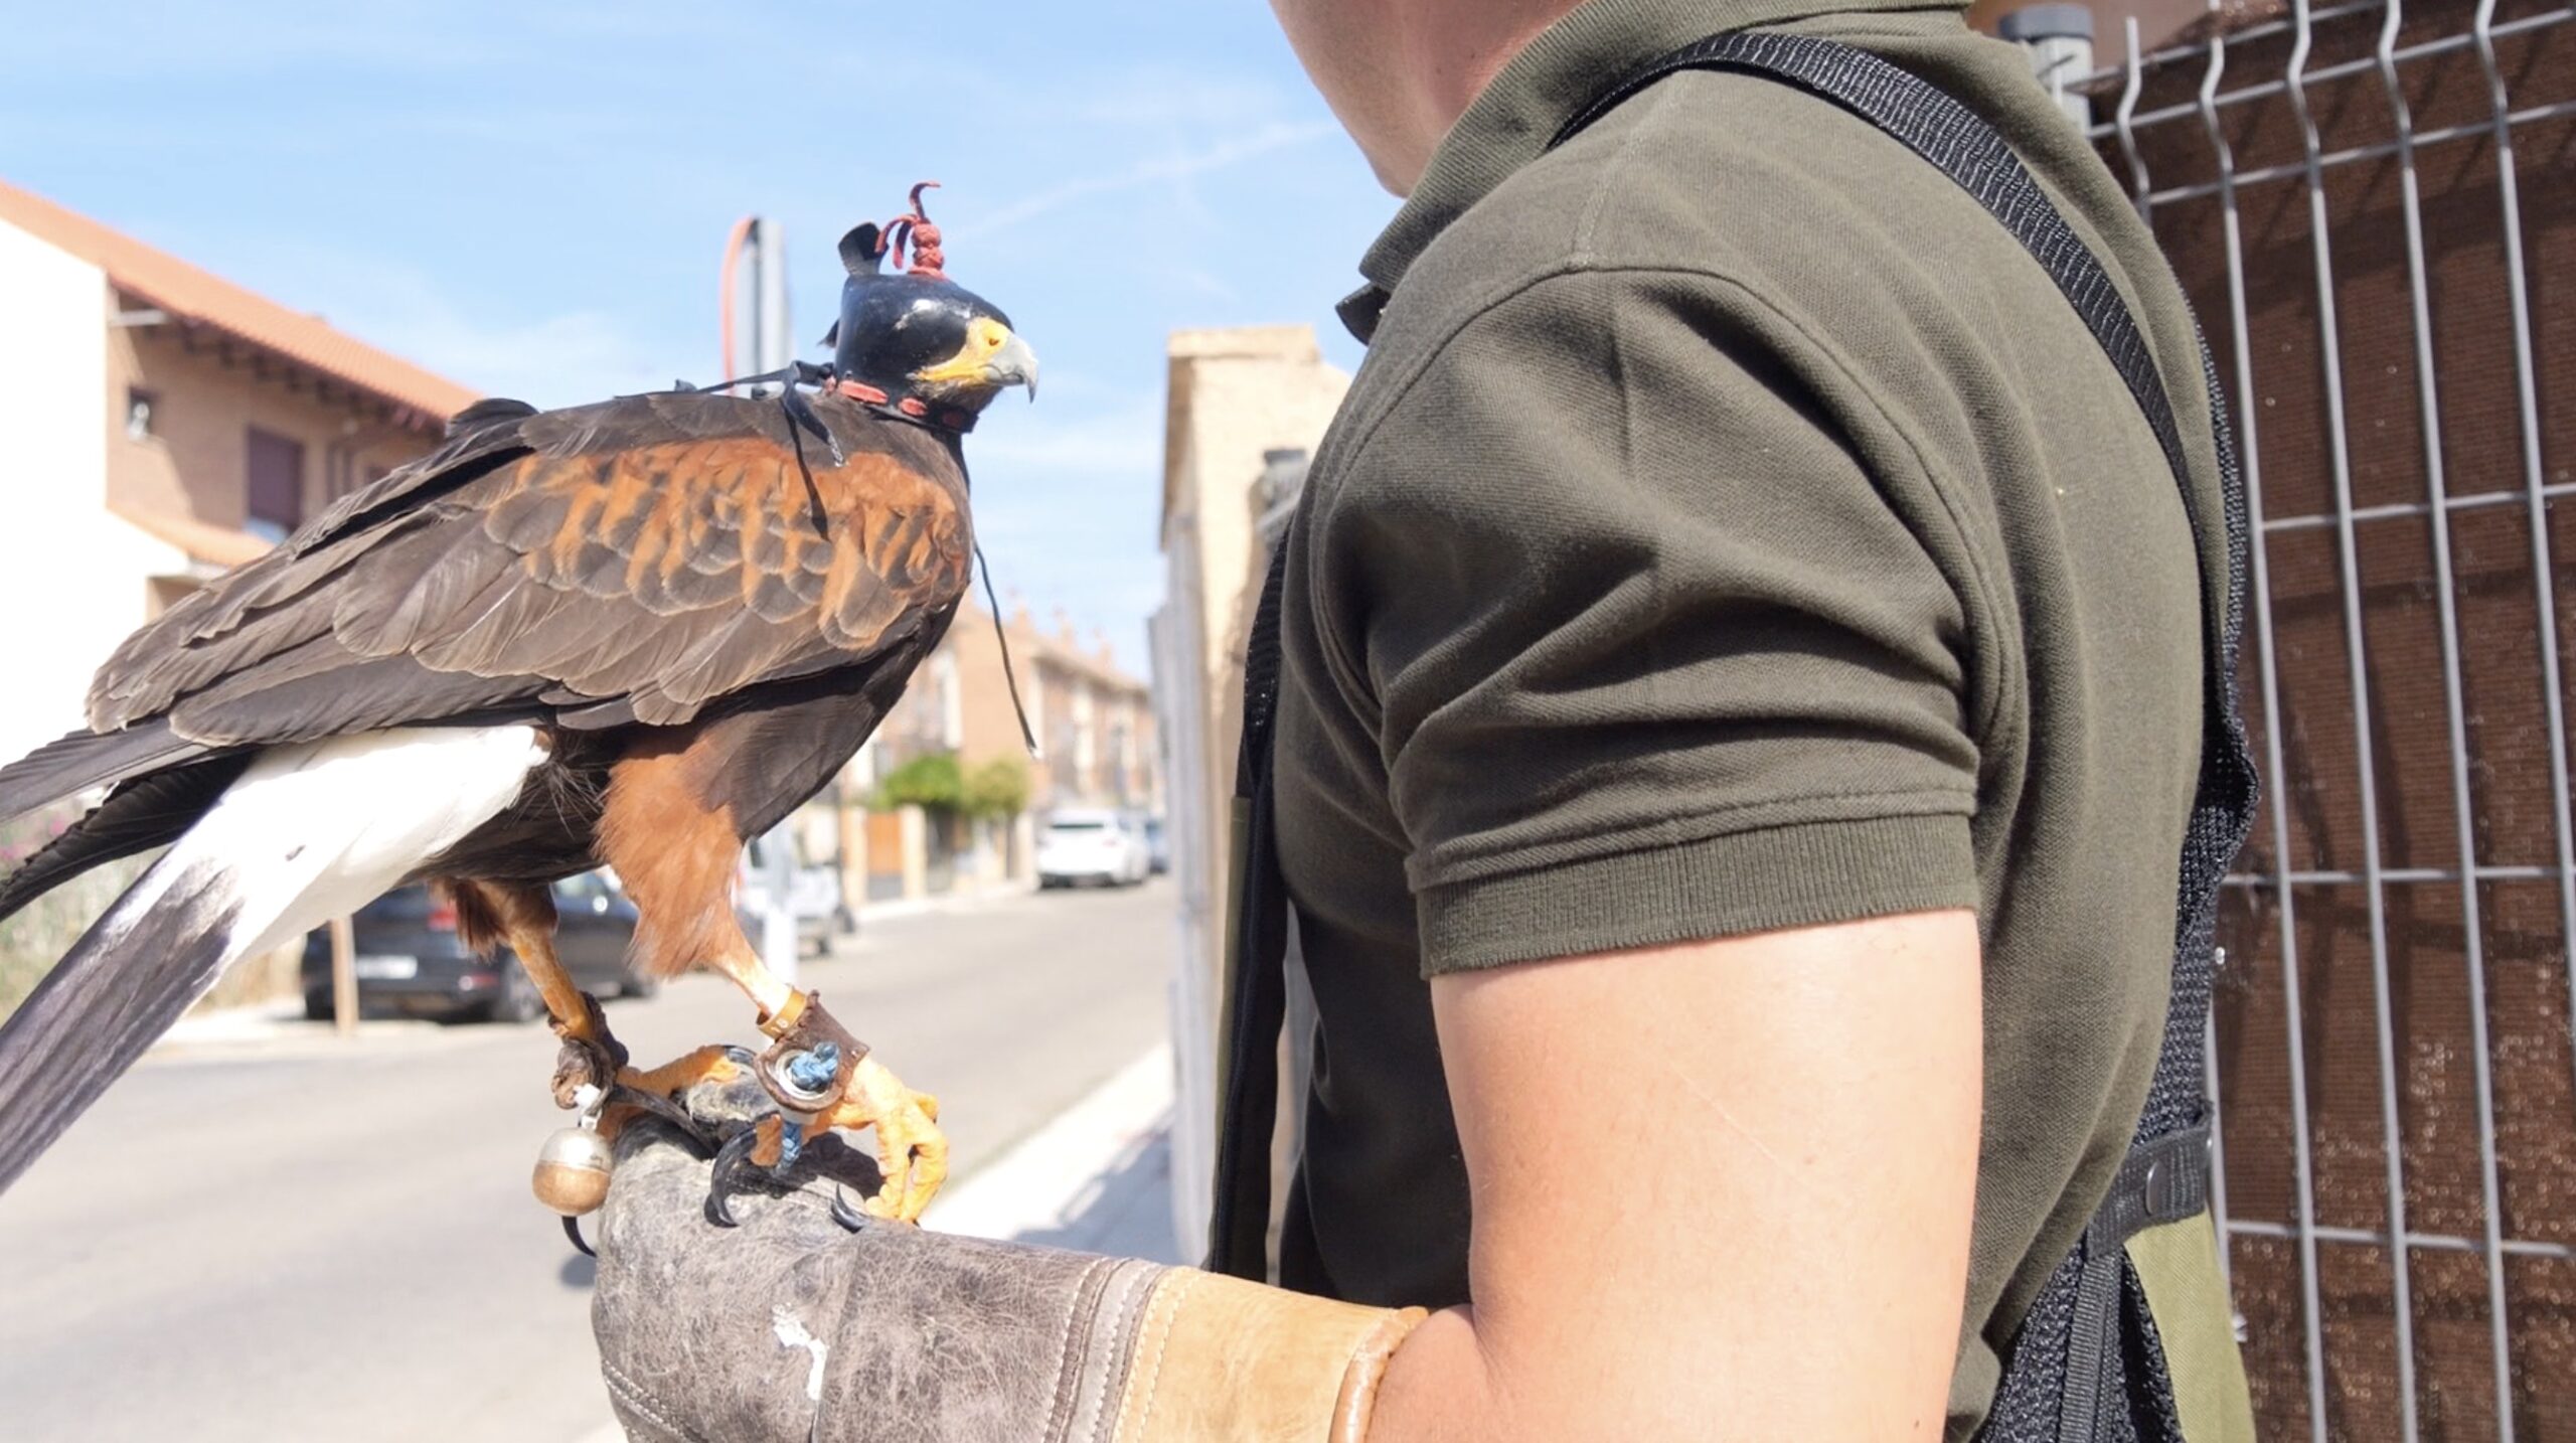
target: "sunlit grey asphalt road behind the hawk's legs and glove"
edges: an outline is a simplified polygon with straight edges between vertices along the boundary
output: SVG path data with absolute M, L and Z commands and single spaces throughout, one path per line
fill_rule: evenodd
M 876 920 L 804 982 L 966 1178 L 1162 1038 L 1170 956 L 1154 881 Z M 639 1062 L 757 1041 L 714 977 L 608 1020 Z M 147 1056 L 0 1196 L 0 1438 L 598 1435 L 590 1263 L 528 1198 L 551 1062 L 435 1023 Z

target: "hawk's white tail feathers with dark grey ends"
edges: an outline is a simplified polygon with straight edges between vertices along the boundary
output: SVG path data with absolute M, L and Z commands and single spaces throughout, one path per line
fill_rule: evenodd
M 0 1026 L 0 1190 L 234 961 L 353 912 L 510 807 L 533 727 L 260 752 Z

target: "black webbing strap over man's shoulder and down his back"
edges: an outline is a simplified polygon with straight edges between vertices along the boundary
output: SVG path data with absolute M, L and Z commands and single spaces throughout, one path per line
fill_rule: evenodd
M 2218 443 L 2221 515 L 2205 515 L 2172 399 L 2154 353 L 2120 301 L 2110 273 L 2084 247 L 2040 183 L 2030 178 L 2004 137 L 1958 98 L 1868 52 L 1762 31 L 1708 36 L 1643 70 L 1625 75 L 1584 106 L 1551 144 L 1582 131 L 1620 100 L 1682 70 L 1734 70 L 1783 80 L 1821 95 L 1899 139 L 1976 196 L 2004 229 L 2048 271 L 2058 291 L 2102 343 L 2128 394 L 2182 487 L 2192 528 L 2228 539 L 2226 606 L 2215 618 L 2215 644 L 2202 667 L 2200 783 L 2182 835 L 2174 899 L 2174 974 L 2164 1018 L 2156 1077 L 2128 1160 L 2112 1180 L 2081 1242 L 2058 1265 L 2014 1337 L 2004 1381 L 1986 1425 L 1989 1438 L 2040 1438 L 2087 1443 L 2138 1438 L 2143 1430 L 2179 1438 L 2172 1379 L 2154 1345 L 2136 1268 L 2123 1245 L 2143 1227 L 2179 1221 L 2208 1209 L 2210 1129 L 2205 1080 L 2205 1028 L 2215 971 L 2218 886 L 2254 825 L 2257 781 L 2236 711 L 2236 655 L 2244 639 L 2246 495 L 2226 425 L 2226 397 L 2208 345 L 2200 348 L 2202 384 Z

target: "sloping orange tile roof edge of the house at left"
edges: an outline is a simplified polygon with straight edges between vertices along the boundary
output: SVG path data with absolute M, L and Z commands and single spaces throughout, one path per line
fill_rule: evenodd
M 245 291 L 222 276 L 198 271 L 170 253 L 152 250 L 129 234 L 113 232 L 90 216 L 67 211 L 5 180 L 0 180 L 0 222 L 98 265 L 116 289 L 131 291 L 173 317 L 227 330 L 337 381 L 410 407 L 433 423 L 482 399 L 479 392 L 422 371 L 399 356 L 376 350 L 353 335 L 332 330 L 319 317 L 291 312 L 268 296 Z

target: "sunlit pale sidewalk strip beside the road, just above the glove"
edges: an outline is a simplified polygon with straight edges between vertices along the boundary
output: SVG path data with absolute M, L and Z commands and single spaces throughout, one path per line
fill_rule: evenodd
M 1172 1046 L 1157 1044 L 1010 1152 L 930 1206 L 927 1227 L 961 1237 L 1020 1237 L 1064 1227 L 1100 1180 L 1172 1123 Z

